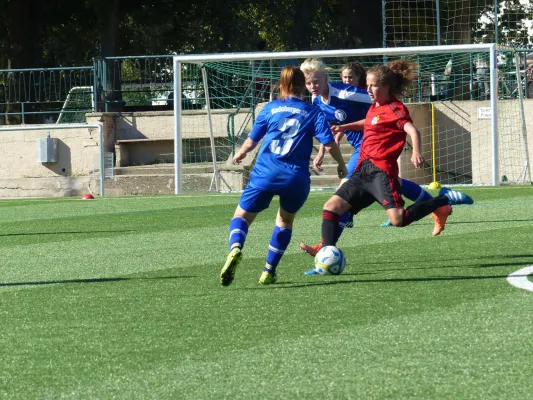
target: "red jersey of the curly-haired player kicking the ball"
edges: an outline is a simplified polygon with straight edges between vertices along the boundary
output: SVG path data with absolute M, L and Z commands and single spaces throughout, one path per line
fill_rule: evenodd
M 365 130 L 359 164 L 370 160 L 388 175 L 398 177 L 398 157 L 402 153 L 407 134 L 403 130 L 412 122 L 405 105 L 396 98 L 387 104 L 372 104 L 365 119 Z

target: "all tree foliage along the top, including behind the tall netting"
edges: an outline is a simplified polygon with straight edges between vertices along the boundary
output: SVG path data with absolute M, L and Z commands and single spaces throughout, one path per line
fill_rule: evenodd
M 0 0 L 0 68 L 94 57 L 381 47 L 378 0 Z M 387 0 L 387 39 L 435 44 L 435 0 Z M 491 41 L 492 0 L 440 0 L 442 44 Z M 533 6 L 501 0 L 500 41 L 532 42 Z M 413 22 L 414 21 L 414 22 Z M 389 26 L 395 25 L 394 28 Z M 430 28 L 433 31 L 430 31 Z

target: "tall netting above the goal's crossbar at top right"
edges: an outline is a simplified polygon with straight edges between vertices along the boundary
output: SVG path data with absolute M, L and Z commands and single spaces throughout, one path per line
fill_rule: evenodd
M 384 47 L 533 46 L 530 0 L 382 0 Z

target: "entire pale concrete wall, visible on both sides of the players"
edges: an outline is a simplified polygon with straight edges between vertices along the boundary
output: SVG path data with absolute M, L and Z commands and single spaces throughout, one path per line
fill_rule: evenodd
M 477 108 L 487 105 L 482 102 L 435 103 L 435 126 L 439 143 L 447 143 L 447 154 L 439 150 L 436 160 L 438 169 L 451 168 L 470 171 L 474 183 L 491 182 L 491 135 L 490 121 L 478 120 Z M 517 126 L 520 114 L 515 102 L 500 102 L 505 110 L 500 129 L 502 152 L 501 175 L 512 181 L 523 168 L 524 152 L 520 141 L 522 134 Z M 415 124 L 423 135 L 423 152 L 431 166 L 431 106 L 418 104 L 410 106 Z M 215 135 L 221 140 L 227 136 L 227 118 L 230 111 L 213 113 Z M 245 113 L 235 117 L 236 130 L 241 125 L 250 128 Z M 533 158 L 533 100 L 525 100 L 525 118 L 528 131 L 529 154 Z M 104 148 L 114 151 L 117 140 L 164 139 L 171 147 L 174 138 L 174 118 L 171 111 L 130 114 L 88 114 L 89 124 L 104 124 Z M 203 141 L 204 150 L 208 140 L 208 125 L 205 111 L 189 111 L 183 118 L 184 140 Z M 509 132 L 515 132 L 511 135 Z M 518 132 L 518 133 L 516 133 Z M 57 163 L 37 162 L 36 142 L 46 136 L 42 131 L 19 131 L 0 133 L 0 196 L 71 196 L 84 192 L 98 193 L 98 182 L 92 179 L 95 157 L 100 152 L 98 130 L 72 129 L 51 131 L 59 139 L 59 160 Z M 457 139 L 458 138 L 458 139 Z M 192 142 L 191 142 L 192 143 Z M 184 146 L 184 149 L 187 146 Z M 441 146 L 442 147 L 442 146 Z M 191 147 L 187 147 L 189 152 Z M 194 148 L 194 147 L 192 147 Z M 195 150 L 197 148 L 194 148 Z M 173 148 L 157 148 L 156 152 L 173 152 Z M 210 152 L 209 152 L 210 154 Z M 188 155 L 190 156 L 190 154 Z M 132 160 L 130 160 L 132 163 Z M 431 168 L 414 172 L 410 167 L 409 152 L 400 158 L 401 173 L 420 183 L 430 183 Z M 446 174 L 438 177 L 445 182 Z

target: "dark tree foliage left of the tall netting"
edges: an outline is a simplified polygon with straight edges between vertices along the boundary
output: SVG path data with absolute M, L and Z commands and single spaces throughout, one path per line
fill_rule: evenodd
M 0 0 L 0 7 L 0 68 L 381 43 L 381 5 L 367 0 Z

